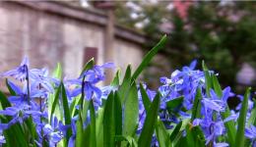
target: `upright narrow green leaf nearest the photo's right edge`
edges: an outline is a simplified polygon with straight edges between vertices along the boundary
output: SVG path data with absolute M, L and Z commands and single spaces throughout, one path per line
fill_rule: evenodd
M 245 129 L 245 123 L 246 123 L 246 114 L 248 109 L 248 99 L 249 99 L 250 89 L 251 88 L 246 89 L 246 92 L 242 101 L 242 107 L 239 112 L 238 127 L 237 127 L 236 136 L 235 136 L 236 147 L 244 147 L 244 140 L 245 140 L 244 129 Z

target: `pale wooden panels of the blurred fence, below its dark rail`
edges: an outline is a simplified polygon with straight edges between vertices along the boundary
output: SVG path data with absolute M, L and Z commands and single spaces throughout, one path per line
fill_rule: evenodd
M 0 2 L 0 72 L 20 64 L 29 56 L 32 68 L 50 71 L 60 62 L 64 73 L 76 77 L 84 65 L 86 47 L 97 48 L 97 64 L 104 56 L 104 26 L 37 11 L 15 3 Z M 127 63 L 141 62 L 141 45 L 115 38 L 114 59 L 123 71 Z

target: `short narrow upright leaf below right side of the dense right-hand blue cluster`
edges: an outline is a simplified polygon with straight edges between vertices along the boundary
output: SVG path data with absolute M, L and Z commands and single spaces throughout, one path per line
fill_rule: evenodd
M 195 120 L 196 118 L 201 118 L 201 100 L 202 100 L 202 92 L 201 92 L 201 89 L 198 87 L 196 92 L 196 97 L 193 103 L 194 105 L 192 108 L 191 121 Z

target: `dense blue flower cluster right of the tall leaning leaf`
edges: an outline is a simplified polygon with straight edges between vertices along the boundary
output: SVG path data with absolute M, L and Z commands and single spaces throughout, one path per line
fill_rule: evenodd
M 193 100 L 197 87 L 204 85 L 204 73 L 196 71 L 196 61 L 193 61 L 189 67 L 183 67 L 182 71 L 174 71 L 170 78 L 161 77 L 160 81 L 163 85 L 160 86 L 159 91 L 163 97 L 161 101 L 169 101 L 173 98 L 184 96 L 183 106 L 190 110 L 193 106 Z M 164 109 L 165 104 L 161 104 L 161 109 Z

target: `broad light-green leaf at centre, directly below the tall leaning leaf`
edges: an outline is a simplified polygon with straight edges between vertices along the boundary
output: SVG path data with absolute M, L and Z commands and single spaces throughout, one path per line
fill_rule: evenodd
M 133 136 L 134 131 L 138 125 L 139 116 L 139 99 L 136 83 L 131 85 L 129 95 L 124 102 L 124 123 L 123 123 L 123 135 Z

